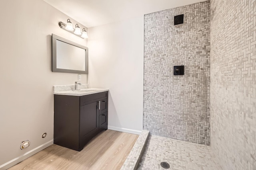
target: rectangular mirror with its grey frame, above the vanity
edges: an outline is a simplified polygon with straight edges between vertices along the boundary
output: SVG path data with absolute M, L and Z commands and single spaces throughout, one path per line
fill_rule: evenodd
M 88 74 L 88 47 L 52 34 L 52 72 Z

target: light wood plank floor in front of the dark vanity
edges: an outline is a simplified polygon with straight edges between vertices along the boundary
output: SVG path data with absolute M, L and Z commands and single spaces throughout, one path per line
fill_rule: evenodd
M 8 170 L 120 170 L 138 136 L 106 130 L 80 152 L 51 145 Z

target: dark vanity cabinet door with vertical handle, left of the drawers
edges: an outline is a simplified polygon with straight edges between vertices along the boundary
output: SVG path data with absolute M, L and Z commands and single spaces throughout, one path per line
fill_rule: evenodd
M 99 130 L 98 102 L 80 106 L 80 137 Z

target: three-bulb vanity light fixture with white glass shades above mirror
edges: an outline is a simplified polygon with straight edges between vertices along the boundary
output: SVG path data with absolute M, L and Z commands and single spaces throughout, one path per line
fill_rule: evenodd
M 80 27 L 78 26 L 78 24 L 76 24 L 76 28 L 74 29 L 70 19 L 67 20 L 67 24 L 60 21 L 59 26 L 60 26 L 60 28 L 66 30 L 66 31 L 78 36 L 78 37 L 88 38 L 88 35 L 87 35 L 87 32 L 86 32 L 85 28 L 83 28 L 82 33 L 81 33 Z

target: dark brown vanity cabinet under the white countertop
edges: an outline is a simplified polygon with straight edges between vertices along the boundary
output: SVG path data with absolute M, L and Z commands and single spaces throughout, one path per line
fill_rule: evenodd
M 73 150 L 108 129 L 108 92 L 54 95 L 54 144 Z

